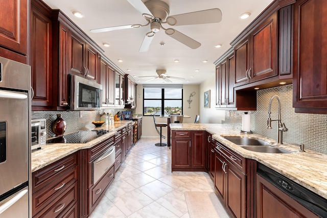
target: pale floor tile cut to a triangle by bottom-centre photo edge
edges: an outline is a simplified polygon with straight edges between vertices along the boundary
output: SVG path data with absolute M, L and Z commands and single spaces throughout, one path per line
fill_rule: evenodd
M 155 213 L 153 213 L 155 211 Z M 148 206 L 136 211 L 128 216 L 128 218 L 160 218 L 160 217 L 178 217 L 167 208 L 153 202 Z

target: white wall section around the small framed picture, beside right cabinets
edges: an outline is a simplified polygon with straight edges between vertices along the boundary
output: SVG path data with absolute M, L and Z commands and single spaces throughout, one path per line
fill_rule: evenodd
M 210 107 L 204 107 L 204 92 L 210 90 Z M 225 120 L 225 111 L 216 110 L 216 75 L 206 79 L 200 84 L 200 123 L 221 123 Z

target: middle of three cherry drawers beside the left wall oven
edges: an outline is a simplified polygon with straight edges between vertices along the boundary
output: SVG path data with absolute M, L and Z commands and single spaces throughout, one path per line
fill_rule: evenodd
M 38 213 L 43 207 L 55 201 L 67 187 L 74 184 L 78 179 L 78 167 L 69 170 L 64 175 L 43 187 L 32 195 L 32 213 Z

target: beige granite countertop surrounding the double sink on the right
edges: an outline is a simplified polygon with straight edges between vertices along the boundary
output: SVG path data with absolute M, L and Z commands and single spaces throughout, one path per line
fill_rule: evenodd
M 242 157 L 256 160 L 327 199 L 327 155 L 308 149 L 294 154 L 268 154 L 246 150 L 222 136 L 258 138 L 291 151 L 298 151 L 299 147 L 287 143 L 277 144 L 276 140 L 257 134 L 241 134 L 239 129 L 232 129 L 224 124 L 172 123 L 170 127 L 171 130 L 206 130 L 213 134 L 214 139 Z

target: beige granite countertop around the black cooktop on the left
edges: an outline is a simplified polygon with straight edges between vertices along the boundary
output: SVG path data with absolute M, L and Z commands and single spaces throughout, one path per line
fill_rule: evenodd
M 118 130 L 126 127 L 128 123 L 132 123 L 132 121 L 129 120 L 116 121 L 114 122 L 114 125 L 102 125 L 101 127 L 95 127 L 94 129 L 89 129 L 89 130 L 107 129 L 111 132 L 101 137 L 98 137 L 92 141 L 89 141 L 87 143 L 76 143 L 76 144 L 56 143 L 56 144 L 46 144 L 42 146 L 41 149 L 32 152 L 32 159 L 31 159 L 32 172 L 41 169 L 42 167 L 47 166 L 51 163 L 54 163 L 57 160 L 60 160 L 70 154 L 73 154 L 78 150 L 91 148 L 92 146 L 99 144 L 100 142 L 110 138 L 111 136 L 114 136 Z

